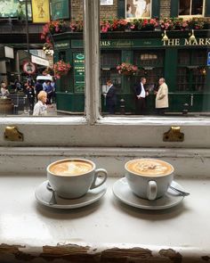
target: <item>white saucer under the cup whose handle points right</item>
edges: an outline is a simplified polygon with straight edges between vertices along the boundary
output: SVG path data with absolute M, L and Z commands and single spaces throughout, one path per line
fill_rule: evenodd
M 46 188 L 47 183 L 48 181 L 44 181 L 44 183 L 36 187 L 36 200 L 54 209 L 69 210 L 85 207 L 86 205 L 98 201 L 107 191 L 106 184 L 103 184 L 93 190 L 89 190 L 84 196 L 77 199 L 64 199 L 55 193 L 57 204 L 50 204 L 49 201 L 52 198 L 52 191 Z

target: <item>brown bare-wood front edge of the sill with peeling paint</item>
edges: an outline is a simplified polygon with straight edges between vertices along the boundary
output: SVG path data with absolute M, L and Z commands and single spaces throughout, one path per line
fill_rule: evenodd
M 113 245 L 113 244 L 112 244 Z M 171 248 L 149 250 L 144 247 L 101 247 L 78 245 L 74 243 L 57 244 L 55 246 L 30 247 L 19 244 L 0 244 L 0 262 L 71 262 L 71 263 L 149 263 L 174 262 L 196 263 L 209 261 L 210 257 L 192 253 L 181 254 Z

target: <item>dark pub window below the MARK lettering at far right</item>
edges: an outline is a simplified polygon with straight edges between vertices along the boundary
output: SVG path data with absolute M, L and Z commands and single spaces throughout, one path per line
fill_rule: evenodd
M 178 91 L 204 91 L 206 86 L 206 50 L 179 50 L 178 65 Z

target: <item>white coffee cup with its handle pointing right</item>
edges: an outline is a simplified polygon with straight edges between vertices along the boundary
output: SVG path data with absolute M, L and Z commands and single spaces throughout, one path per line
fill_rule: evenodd
M 107 171 L 95 168 L 92 160 L 64 159 L 48 165 L 47 178 L 52 189 L 62 198 L 79 198 L 89 189 L 102 185 L 107 179 Z M 96 179 L 102 176 L 96 184 Z

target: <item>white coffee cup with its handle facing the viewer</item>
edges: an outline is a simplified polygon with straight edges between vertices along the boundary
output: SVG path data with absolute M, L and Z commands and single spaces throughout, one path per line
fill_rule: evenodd
M 166 194 L 174 178 L 174 167 L 157 159 L 129 160 L 125 163 L 125 177 L 133 193 L 155 200 Z

